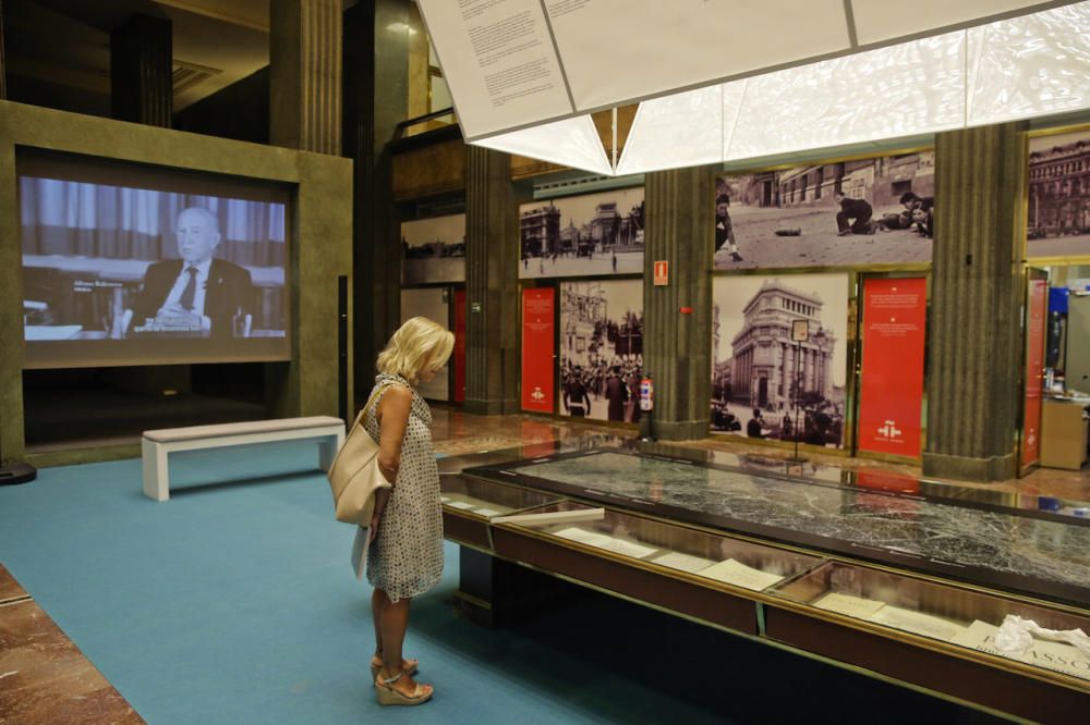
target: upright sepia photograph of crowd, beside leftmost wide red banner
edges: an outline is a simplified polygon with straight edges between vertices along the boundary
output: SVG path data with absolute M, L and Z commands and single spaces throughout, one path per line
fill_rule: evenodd
M 642 280 L 561 284 L 560 413 L 637 422 L 642 374 Z

